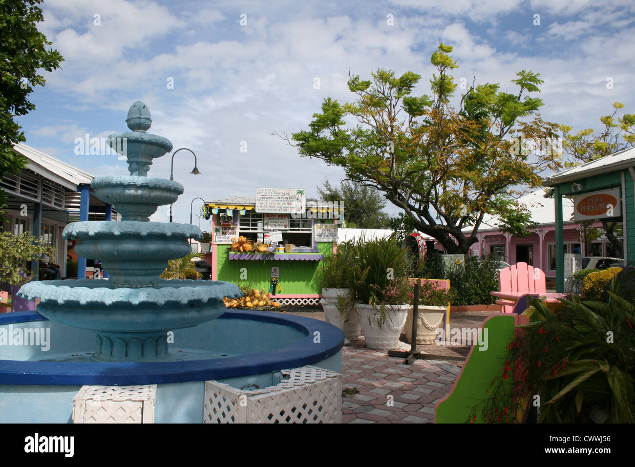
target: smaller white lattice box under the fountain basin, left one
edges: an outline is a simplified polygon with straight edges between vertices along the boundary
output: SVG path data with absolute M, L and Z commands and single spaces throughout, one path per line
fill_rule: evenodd
M 74 423 L 154 423 L 156 384 L 82 386 L 73 398 Z

